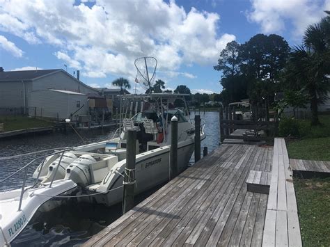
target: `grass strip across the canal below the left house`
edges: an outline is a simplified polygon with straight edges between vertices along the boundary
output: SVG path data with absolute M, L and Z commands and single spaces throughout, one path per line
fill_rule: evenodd
M 49 127 L 52 122 L 40 120 L 38 118 L 29 118 L 22 115 L 17 116 L 0 116 L 0 123 L 3 122 L 5 132 L 17 129 L 30 129 L 36 127 Z

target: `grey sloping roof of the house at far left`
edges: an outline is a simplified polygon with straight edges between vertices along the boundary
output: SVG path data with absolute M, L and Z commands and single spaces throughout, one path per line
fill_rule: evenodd
M 61 70 L 20 70 L 0 72 L 0 81 L 31 81 Z

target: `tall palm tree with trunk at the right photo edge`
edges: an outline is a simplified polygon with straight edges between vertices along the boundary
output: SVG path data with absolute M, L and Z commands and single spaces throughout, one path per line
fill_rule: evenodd
M 308 26 L 304 44 L 294 47 L 290 54 L 287 77 L 300 83 L 308 91 L 312 125 L 320 125 L 317 105 L 324 102 L 330 90 L 330 15 L 321 22 Z M 301 91 L 300 90 L 300 91 Z

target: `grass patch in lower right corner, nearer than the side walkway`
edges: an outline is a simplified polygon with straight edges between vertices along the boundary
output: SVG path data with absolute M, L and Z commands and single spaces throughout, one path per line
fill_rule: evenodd
M 303 246 L 330 246 L 330 178 L 294 179 Z

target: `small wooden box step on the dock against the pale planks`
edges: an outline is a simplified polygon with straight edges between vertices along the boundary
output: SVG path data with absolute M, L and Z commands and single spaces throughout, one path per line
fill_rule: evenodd
M 250 170 L 249 176 L 246 180 L 247 191 L 268 194 L 271 178 L 272 173 L 260 170 Z

